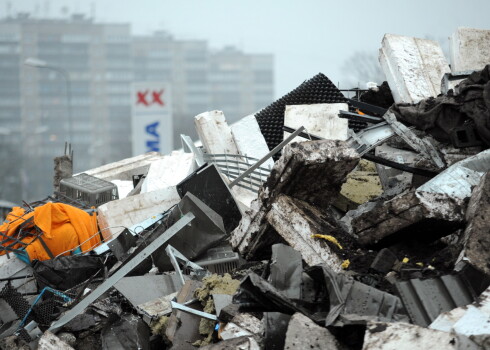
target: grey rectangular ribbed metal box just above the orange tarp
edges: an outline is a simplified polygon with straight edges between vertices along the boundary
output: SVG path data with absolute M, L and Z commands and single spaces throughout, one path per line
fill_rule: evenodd
M 85 173 L 61 180 L 60 192 L 95 207 L 119 198 L 117 186 L 112 182 Z

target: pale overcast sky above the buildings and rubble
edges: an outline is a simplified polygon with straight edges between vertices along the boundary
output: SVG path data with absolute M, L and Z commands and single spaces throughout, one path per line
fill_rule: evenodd
M 180 39 L 205 39 L 275 57 L 276 97 L 318 72 L 347 81 L 344 62 L 376 55 L 385 33 L 431 37 L 449 45 L 459 26 L 490 29 L 489 0 L 0 0 L 0 16 L 18 11 L 60 17 L 92 13 L 98 22 L 131 23 L 133 34 L 167 30 Z M 3 17 L 3 16 L 2 16 Z

